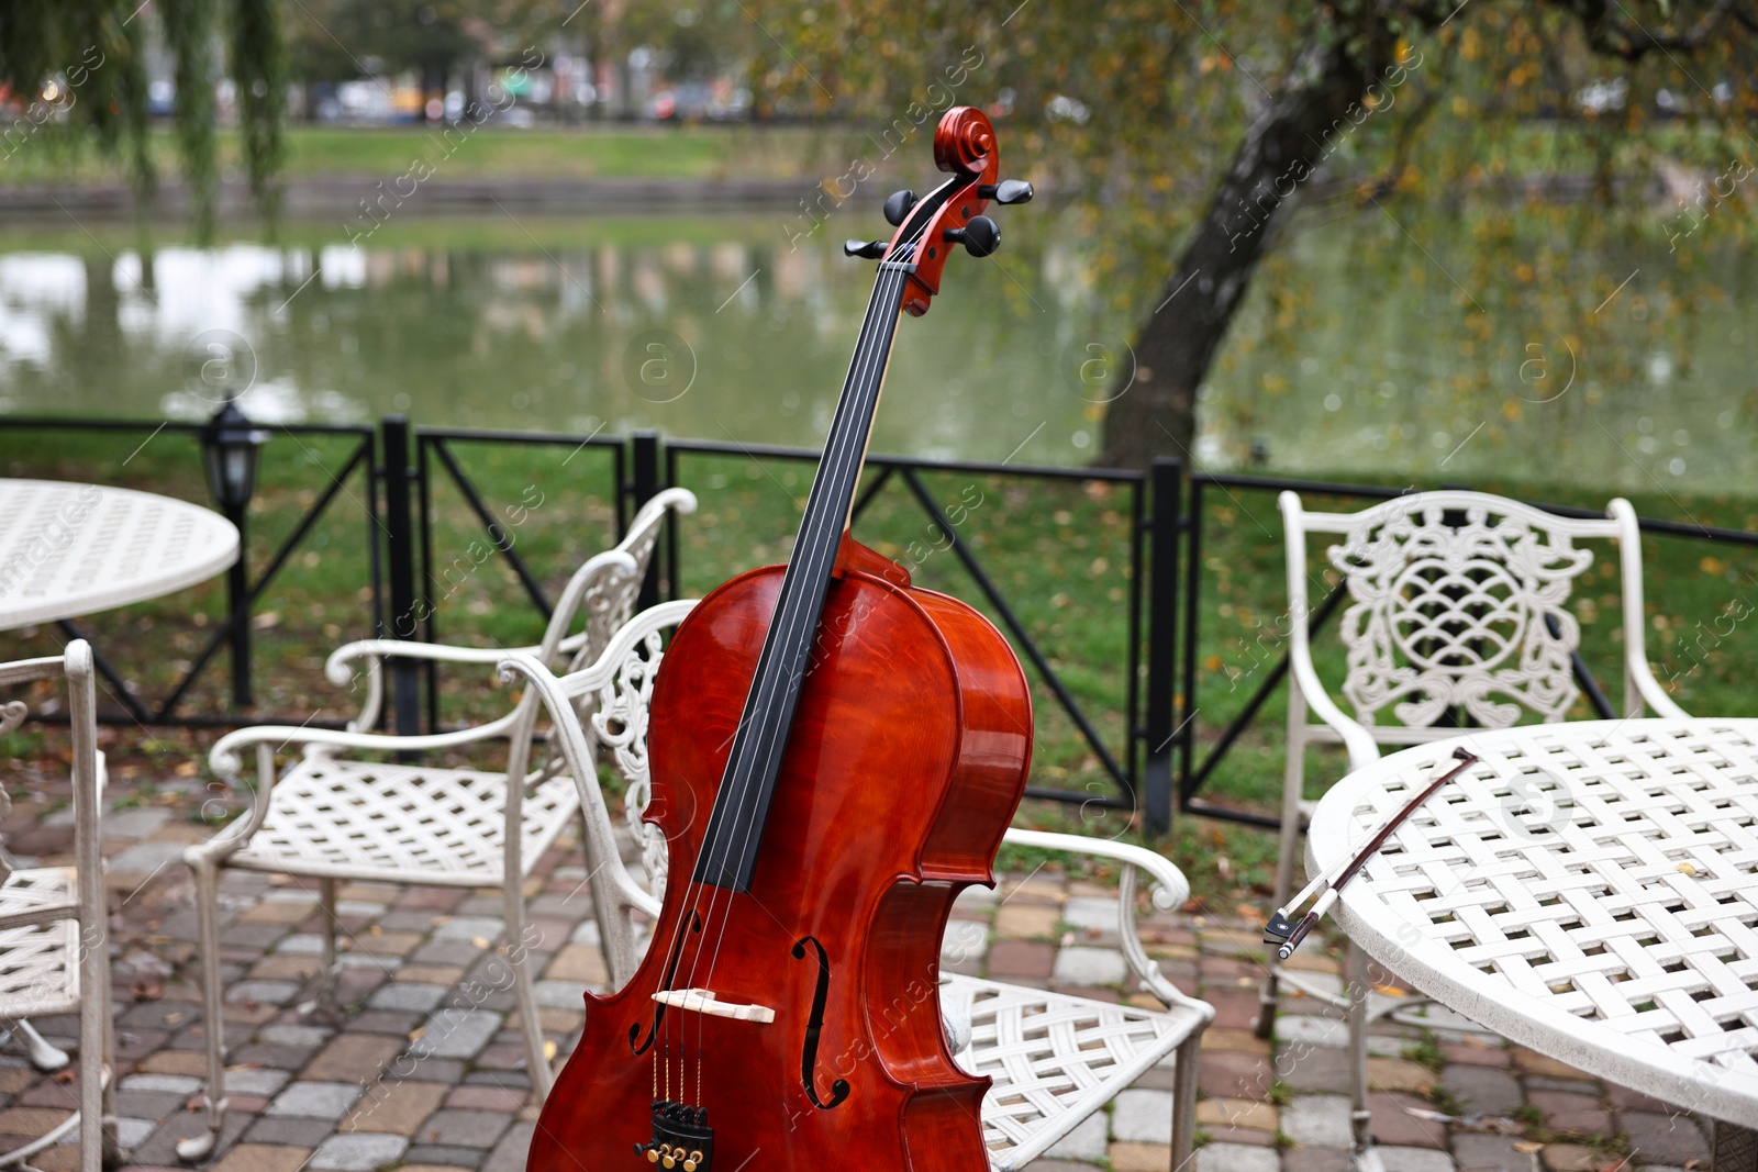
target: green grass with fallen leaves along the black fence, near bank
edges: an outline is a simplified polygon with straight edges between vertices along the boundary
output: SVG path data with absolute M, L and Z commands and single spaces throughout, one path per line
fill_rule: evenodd
M 0 432 L 0 474 L 95 480 L 160 490 L 206 501 L 195 443 L 163 434 L 132 460 L 141 436 L 37 436 Z M 258 501 L 250 531 L 250 561 L 260 568 L 297 524 L 318 492 L 331 483 L 350 450 L 350 439 L 278 436 L 267 448 Z M 540 494 L 541 503 L 512 529 L 517 552 L 543 582 L 550 597 L 592 552 L 614 541 L 615 513 L 608 453 L 584 450 L 564 464 L 568 448 L 512 445 L 455 445 L 459 462 L 475 480 L 489 508 L 508 506 Z M 127 460 L 127 464 L 123 462 Z M 810 466 L 744 455 L 686 455 L 680 480 L 701 497 L 701 508 L 679 531 L 679 590 L 701 596 L 730 575 L 782 561 L 809 487 Z M 359 473 L 331 513 L 288 561 L 258 606 L 253 631 L 257 701 L 260 712 L 292 715 L 316 712 L 345 719 L 359 692 L 331 685 L 323 657 L 339 643 L 373 634 L 366 583 L 366 520 L 359 499 Z M 1099 481 L 1021 483 L 1009 478 L 925 474 L 930 496 L 942 506 L 965 504 L 960 536 L 981 557 L 1006 594 L 1018 620 L 1042 647 L 1069 691 L 1093 719 L 1106 745 L 1122 752 L 1127 673 L 1127 590 L 1130 508 L 1127 490 Z M 1566 485 L 1500 483 L 1486 488 L 1565 504 L 1603 506 L 1603 499 Z M 1283 654 L 1276 631 L 1283 613 L 1282 525 L 1268 492 L 1234 490 L 1234 499 L 1210 492 L 1204 515 L 1201 643 L 1197 671 L 1197 761 L 1236 715 L 1250 692 Z M 1308 501 L 1311 508 L 1359 508 L 1359 501 Z M 1704 524 L 1758 529 L 1758 503 L 1744 497 L 1637 497 L 1651 517 L 1695 518 Z M 471 543 L 480 543 L 480 522 L 462 496 L 438 469 L 434 478 L 434 559 L 457 566 L 455 589 L 436 604 L 440 638 L 476 645 L 520 645 L 541 633 L 543 622 L 512 571 L 499 561 L 476 564 Z M 858 525 L 863 541 L 912 566 L 919 585 L 970 601 L 999 620 L 995 610 L 944 548 L 919 506 L 893 483 L 881 492 Z M 480 545 L 478 545 L 480 550 Z M 1315 543 L 1313 564 L 1322 562 Z M 1682 538 L 1644 543 L 1649 659 L 1656 675 L 1686 710 L 1737 715 L 1749 706 L 1754 622 L 1723 622 L 1737 599 L 1758 599 L 1758 552 L 1707 545 Z M 1621 689 L 1617 564 L 1610 550 L 1596 550 L 1577 599 L 1584 655 L 1614 703 Z M 209 582 L 169 599 L 144 603 L 84 624 L 100 650 L 149 694 L 162 694 L 195 655 L 222 619 L 223 590 Z M 1751 613 L 1758 606 L 1746 604 Z M 1705 634 L 1707 633 L 1707 634 Z M 1262 640 L 1259 638 L 1262 636 Z M 1700 643 L 1693 650 L 1693 643 Z M 47 654 L 53 631 L 0 636 L 0 657 Z M 1334 631 L 1317 641 L 1320 671 L 1334 678 L 1341 652 Z M 1097 756 L 1062 712 L 1051 692 L 1034 680 L 1037 745 L 1032 780 L 1037 785 L 1113 792 Z M 496 715 L 506 692 L 490 673 L 443 673 L 441 713 L 447 722 Z M 229 712 L 225 657 L 216 657 L 192 694 L 190 712 Z M 1204 798 L 1246 810 L 1271 810 L 1282 771 L 1285 691 L 1276 689 L 1234 752 L 1217 768 Z M 1586 703 L 1572 712 L 1589 719 Z M 1308 761 L 1308 792 L 1317 796 L 1341 777 L 1334 750 L 1315 750 Z M 1125 812 L 1097 807 L 1027 803 L 1020 824 L 1139 842 L 1139 826 Z M 1197 898 L 1215 914 L 1241 905 L 1264 905 L 1275 870 L 1275 840 L 1257 829 L 1206 819 L 1178 819 L 1169 856 L 1192 879 Z M 1007 849 L 1002 866 L 1032 870 L 1065 859 Z M 1085 865 L 1093 879 L 1113 879 L 1106 863 Z

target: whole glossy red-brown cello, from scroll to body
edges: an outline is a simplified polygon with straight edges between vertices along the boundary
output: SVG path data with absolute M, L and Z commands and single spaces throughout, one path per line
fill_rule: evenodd
M 708 594 L 661 661 L 665 901 L 629 982 L 585 996 L 531 1172 L 988 1167 L 939 951 L 958 893 L 993 886 L 1032 701 L 983 615 L 847 534 L 898 315 L 953 244 L 995 251 L 988 202 L 1032 197 L 997 181 L 979 109 L 944 114 L 933 156 L 949 177 L 886 200 L 891 239 L 844 250 L 879 274 L 788 564 Z

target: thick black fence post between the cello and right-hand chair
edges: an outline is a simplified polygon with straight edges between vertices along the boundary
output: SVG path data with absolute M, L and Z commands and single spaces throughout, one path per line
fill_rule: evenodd
M 1148 578 L 1148 759 L 1143 805 L 1148 833 L 1173 828 L 1173 742 L 1178 678 L 1178 545 L 1183 504 L 1183 462 L 1153 460 L 1153 513 L 1148 518 L 1153 561 Z

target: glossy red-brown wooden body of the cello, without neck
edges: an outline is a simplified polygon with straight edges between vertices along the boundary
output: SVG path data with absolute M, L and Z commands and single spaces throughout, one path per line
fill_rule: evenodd
M 707 1109 L 721 1172 L 988 1167 L 990 1081 L 948 1051 L 939 949 L 958 893 L 993 882 L 1030 761 L 1030 694 L 983 615 L 890 571 L 832 582 L 766 831 L 793 849 L 765 852 L 751 889 L 707 910 L 687 877 L 782 568 L 733 578 L 679 627 L 654 685 L 647 814 L 672 882 L 640 970 L 587 998 L 534 1172 L 645 1167 L 650 1107 L 673 1098 Z M 652 1000 L 691 973 L 774 1021 Z

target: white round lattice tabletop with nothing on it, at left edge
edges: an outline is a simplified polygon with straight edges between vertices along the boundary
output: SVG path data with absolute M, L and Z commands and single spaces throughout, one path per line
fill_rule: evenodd
M 0 480 L 0 631 L 171 594 L 236 559 L 237 529 L 186 501 Z

